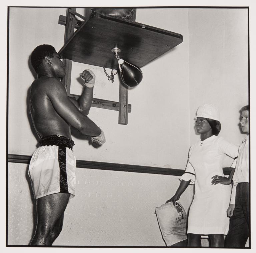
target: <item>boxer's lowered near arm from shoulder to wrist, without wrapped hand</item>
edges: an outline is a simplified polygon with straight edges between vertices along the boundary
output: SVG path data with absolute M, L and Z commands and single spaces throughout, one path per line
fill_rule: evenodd
M 100 135 L 100 128 L 76 108 L 58 79 L 49 78 L 49 81 L 44 85 L 44 89 L 55 111 L 66 122 L 85 135 Z

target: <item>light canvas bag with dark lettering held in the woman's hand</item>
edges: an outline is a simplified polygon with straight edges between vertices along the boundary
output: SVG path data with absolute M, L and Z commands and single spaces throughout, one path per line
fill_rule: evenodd
M 169 202 L 156 207 L 155 213 L 167 246 L 187 239 L 187 214 L 179 202 L 175 205 Z

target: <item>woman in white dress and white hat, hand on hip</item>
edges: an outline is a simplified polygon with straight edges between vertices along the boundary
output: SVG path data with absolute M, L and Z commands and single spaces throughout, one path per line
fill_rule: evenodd
M 231 194 L 231 180 L 224 177 L 222 162 L 225 155 L 235 158 L 238 147 L 217 135 L 220 132 L 218 110 L 210 104 L 202 105 L 196 113 L 195 128 L 201 140 L 190 147 L 181 183 L 167 202 L 175 203 L 189 184 L 195 184 L 195 195 L 188 215 L 188 246 L 201 246 L 201 235 L 208 235 L 211 247 L 224 247 L 229 218 L 226 210 Z M 219 176 L 217 176 L 219 175 Z

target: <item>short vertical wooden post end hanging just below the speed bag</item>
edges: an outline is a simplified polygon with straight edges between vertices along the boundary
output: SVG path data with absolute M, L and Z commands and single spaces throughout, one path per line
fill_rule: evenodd
M 122 82 L 119 83 L 119 117 L 118 124 L 128 124 L 128 86 L 124 86 Z

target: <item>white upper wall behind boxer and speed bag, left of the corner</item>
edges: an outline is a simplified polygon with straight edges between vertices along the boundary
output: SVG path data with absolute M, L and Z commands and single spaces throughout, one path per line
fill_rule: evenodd
M 9 153 L 31 155 L 35 149 L 37 140 L 29 124 L 25 100 L 34 80 L 28 57 L 37 45 L 43 43 L 52 44 L 57 51 L 62 47 L 64 26 L 58 25 L 58 17 L 65 13 L 66 9 L 10 9 Z M 166 20 L 165 17 L 172 18 Z M 82 135 L 75 133 L 74 153 L 77 159 L 83 160 L 185 168 L 190 144 L 188 76 L 184 75 L 188 72 L 188 11 L 138 9 L 136 19 L 181 33 L 184 41 L 142 68 L 142 82 L 129 90 L 132 113 L 128 114 L 128 125 L 118 125 L 117 111 L 91 108 L 89 117 L 102 127 L 107 141 L 96 149 L 88 145 Z M 79 89 L 75 88 L 79 86 L 77 78 L 87 67 L 73 64 L 71 92 Z M 115 76 L 112 84 L 103 68 L 89 67 L 96 73 L 94 97 L 119 101 L 118 77 Z M 16 74 L 17 69 L 21 75 Z M 110 69 L 107 72 L 110 74 Z M 179 108 L 179 115 L 175 108 Z M 174 124 L 170 118 L 175 118 L 179 124 Z

